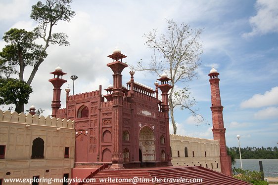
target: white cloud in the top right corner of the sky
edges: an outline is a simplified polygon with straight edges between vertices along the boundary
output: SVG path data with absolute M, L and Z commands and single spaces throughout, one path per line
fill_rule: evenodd
M 249 19 L 252 31 L 250 33 L 244 33 L 243 37 L 278 32 L 277 0 L 257 0 L 255 7 L 257 9 L 257 15 Z

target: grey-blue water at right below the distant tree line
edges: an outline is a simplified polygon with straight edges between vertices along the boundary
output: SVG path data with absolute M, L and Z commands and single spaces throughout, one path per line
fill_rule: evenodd
M 240 168 L 240 160 L 235 160 L 236 163 L 232 168 Z M 278 159 L 242 159 L 242 168 L 243 170 L 260 171 L 259 161 L 263 162 L 265 177 L 278 178 Z

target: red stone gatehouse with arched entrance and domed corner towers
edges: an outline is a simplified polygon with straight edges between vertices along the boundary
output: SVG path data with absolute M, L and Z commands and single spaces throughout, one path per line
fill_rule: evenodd
M 66 89 L 66 108 L 57 109 L 61 86 L 54 86 L 52 115 L 75 120 L 76 165 L 107 162 L 114 169 L 172 165 L 167 94 L 172 87 L 170 79 L 158 79 L 161 84 L 156 83 L 154 91 L 135 82 L 134 72 L 130 72 L 131 79 L 124 87 L 121 73 L 127 67 L 122 62 L 126 56 L 115 52 L 108 57 L 112 59 L 107 66 L 113 72 L 113 87 L 105 89 L 106 95 L 101 94 L 101 85 L 96 91 L 72 96 Z M 54 85 L 61 79 L 49 81 Z

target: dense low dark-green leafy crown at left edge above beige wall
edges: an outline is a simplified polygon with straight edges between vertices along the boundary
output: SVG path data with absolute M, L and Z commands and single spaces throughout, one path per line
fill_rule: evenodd
M 28 104 L 32 87 L 19 79 L 0 78 L 0 104 L 14 104 L 15 111 L 20 112 L 20 104 Z

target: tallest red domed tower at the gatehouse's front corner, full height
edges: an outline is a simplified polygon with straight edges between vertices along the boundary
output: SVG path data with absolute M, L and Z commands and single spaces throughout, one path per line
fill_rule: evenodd
M 121 53 L 121 50 L 115 49 L 112 55 L 108 56 L 112 59 L 112 62 L 107 64 L 109 68 L 113 71 L 113 88 L 112 88 L 112 97 L 113 97 L 113 111 L 114 111 L 114 120 L 112 126 L 112 142 L 113 142 L 113 151 L 112 155 L 112 169 L 123 169 L 123 148 L 122 148 L 122 123 L 123 123 L 123 99 L 124 93 L 122 89 L 122 71 L 128 67 L 127 64 L 122 62 L 123 58 L 127 56 Z M 114 61 L 115 60 L 115 61 Z M 121 60 L 121 61 L 119 61 Z

